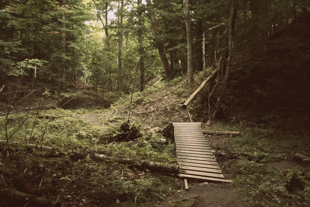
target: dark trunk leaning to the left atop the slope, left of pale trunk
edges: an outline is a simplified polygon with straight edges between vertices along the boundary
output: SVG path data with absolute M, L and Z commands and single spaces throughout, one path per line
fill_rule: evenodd
M 162 43 L 161 35 L 160 35 L 159 29 L 158 29 L 156 16 L 155 16 L 155 13 L 153 11 L 153 4 L 151 3 L 151 0 L 146 0 L 146 3 L 147 3 L 147 7 L 148 7 L 148 13 L 150 15 L 151 22 L 152 22 L 152 28 L 153 28 L 154 35 L 155 35 L 155 43 L 156 43 L 160 58 L 162 60 L 162 65 L 163 65 L 165 72 L 166 72 L 166 77 L 168 80 L 172 80 L 172 79 L 174 79 L 174 75 L 173 75 L 173 73 L 169 67 L 169 62 L 168 62 L 168 59 L 167 59 L 167 56 L 165 53 L 165 49 L 164 49 L 164 45 Z

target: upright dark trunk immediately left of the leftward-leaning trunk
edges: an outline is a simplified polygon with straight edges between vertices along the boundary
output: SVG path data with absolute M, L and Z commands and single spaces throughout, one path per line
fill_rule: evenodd
M 143 19 L 142 19 L 142 2 L 138 0 L 139 19 L 138 19 L 138 42 L 140 56 L 140 92 L 144 91 L 144 44 L 143 44 Z

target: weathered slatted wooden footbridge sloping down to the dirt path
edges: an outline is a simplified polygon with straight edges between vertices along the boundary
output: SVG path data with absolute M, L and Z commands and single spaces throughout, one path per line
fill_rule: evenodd
M 224 178 L 202 133 L 201 124 L 201 122 L 171 122 L 163 130 L 164 134 L 175 142 L 179 164 L 178 176 L 208 182 L 232 182 Z

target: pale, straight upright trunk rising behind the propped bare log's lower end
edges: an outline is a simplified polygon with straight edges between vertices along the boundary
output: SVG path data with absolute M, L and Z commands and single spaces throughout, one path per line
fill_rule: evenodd
M 186 37 L 187 37 L 187 83 L 191 84 L 194 82 L 194 63 L 193 63 L 193 37 L 191 20 L 189 16 L 189 0 L 183 0 L 184 4 L 184 16 L 186 26 Z

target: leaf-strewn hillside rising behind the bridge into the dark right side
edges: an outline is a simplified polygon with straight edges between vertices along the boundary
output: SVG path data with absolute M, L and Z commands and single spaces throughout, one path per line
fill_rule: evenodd
M 283 130 L 293 130 L 294 133 L 308 131 L 309 17 L 308 13 L 304 14 L 259 45 L 249 44 L 235 51 L 225 121 L 231 124 L 243 121 L 276 123 Z M 161 127 L 170 121 L 190 121 L 189 115 L 193 121 L 206 123 L 212 119 L 221 83 L 216 85 L 217 80 L 210 83 L 210 90 L 205 87 L 186 110 L 182 109 L 182 104 L 211 70 L 196 73 L 195 83 L 190 86 L 185 83 L 186 77 L 179 77 L 170 82 L 157 80 L 154 83 L 157 88 L 135 93 L 131 119 L 137 119 L 149 128 Z M 130 98 L 127 96 L 117 101 L 103 118 L 107 115 L 128 118 Z

